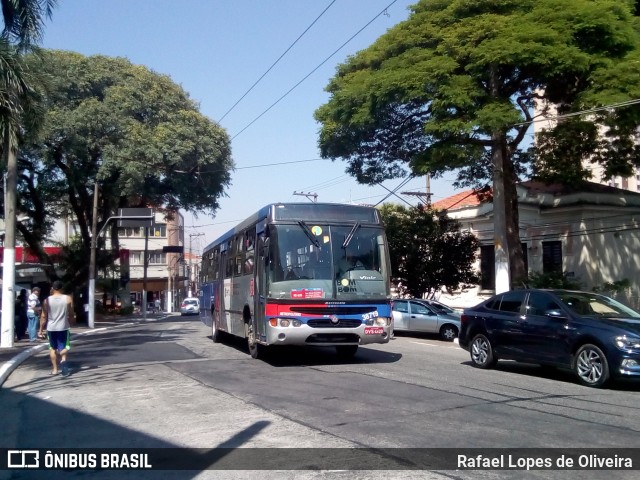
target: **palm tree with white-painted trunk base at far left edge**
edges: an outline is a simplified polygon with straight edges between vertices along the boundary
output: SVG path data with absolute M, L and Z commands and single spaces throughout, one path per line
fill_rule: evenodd
M 16 222 L 17 132 L 33 88 L 23 55 L 42 37 L 44 21 L 51 17 L 57 0 L 0 0 L 4 29 L 0 35 L 0 135 L 6 164 L 5 240 L 2 272 L 1 347 L 13 346 Z

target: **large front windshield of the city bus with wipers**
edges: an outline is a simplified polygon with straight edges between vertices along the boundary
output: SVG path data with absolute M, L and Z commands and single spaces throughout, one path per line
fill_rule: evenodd
M 380 227 L 299 222 L 270 226 L 268 296 L 349 300 L 389 296 Z

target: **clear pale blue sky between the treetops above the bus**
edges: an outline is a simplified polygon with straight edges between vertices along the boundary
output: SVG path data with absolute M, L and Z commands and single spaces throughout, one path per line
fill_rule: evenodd
M 219 122 L 233 138 L 237 170 L 227 189 L 228 197 L 221 199 L 215 216 L 199 214 L 194 218 L 185 214 L 185 241 L 188 246 L 188 235 L 192 234 L 194 253 L 199 253 L 206 244 L 266 204 L 310 201 L 294 192 L 317 193 L 320 202 L 368 204 L 376 204 L 388 195 L 381 186 L 359 185 L 345 173 L 344 162 L 320 159 L 319 125 L 313 113 L 328 100 L 324 87 L 336 66 L 405 20 L 409 15 L 407 7 L 413 3 L 414 0 L 59 0 L 45 27 L 43 46 L 84 55 L 125 57 L 169 75 L 199 103 L 202 114 Z M 450 173 L 431 181 L 434 201 L 454 193 L 454 177 Z M 400 182 L 388 181 L 384 186 L 393 190 Z M 401 191 L 425 189 L 425 179 L 418 178 Z M 415 196 L 403 198 L 411 204 L 418 203 Z M 403 203 L 393 197 L 388 201 Z M 203 235 L 195 236 L 198 233 Z

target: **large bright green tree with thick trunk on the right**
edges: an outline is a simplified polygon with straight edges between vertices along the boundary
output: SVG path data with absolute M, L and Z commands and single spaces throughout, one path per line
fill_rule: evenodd
M 363 183 L 449 170 L 461 183 L 492 183 L 496 268 L 508 275 L 510 266 L 515 282 L 526 274 L 515 184 L 531 168 L 536 102 L 564 115 L 640 97 L 634 8 L 633 0 L 420 1 L 338 67 L 316 111 L 321 154 L 346 160 Z M 637 160 L 639 116 L 636 107 L 582 117 L 614 127 L 607 165 Z M 586 160 L 593 152 L 582 147 Z

